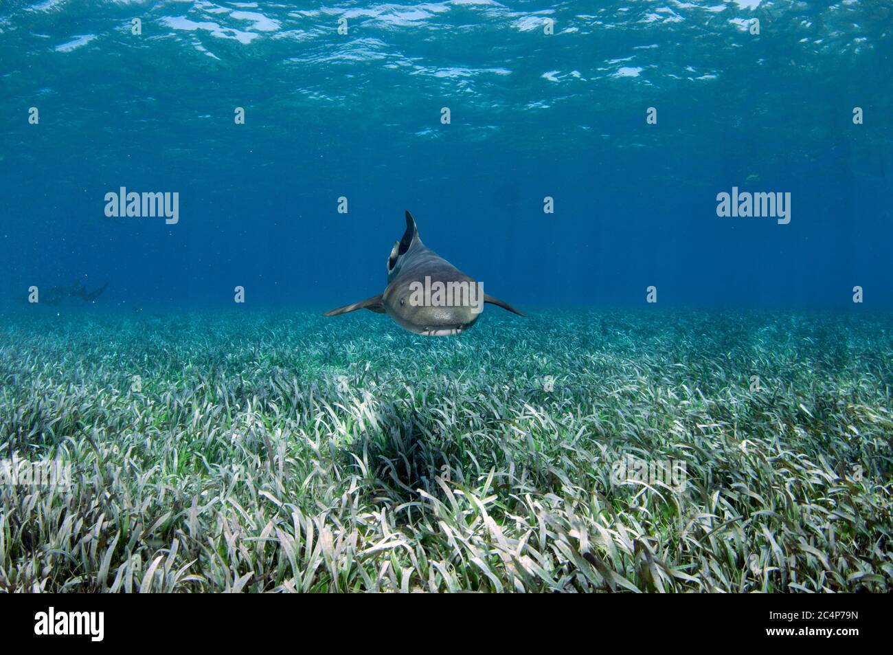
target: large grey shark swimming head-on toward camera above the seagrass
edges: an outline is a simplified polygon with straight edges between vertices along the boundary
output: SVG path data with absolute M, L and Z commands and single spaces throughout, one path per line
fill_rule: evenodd
M 452 293 L 447 297 L 453 297 L 453 302 L 447 305 L 442 302 L 443 296 L 441 302 L 437 299 L 430 302 L 430 290 L 434 289 L 434 298 L 437 297 L 438 282 L 442 285 L 441 288 L 449 288 L 457 293 L 459 289 L 467 290 L 464 298 L 470 302 L 458 302 Z M 424 301 L 420 302 L 422 296 Z M 406 212 L 403 239 L 396 241 L 388 257 L 388 287 L 384 293 L 353 305 L 338 307 L 326 312 L 324 316 L 369 309 L 379 314 L 388 314 L 410 332 L 442 337 L 459 334 L 472 327 L 485 302 L 523 316 L 522 312 L 508 303 L 484 294 L 482 285 L 430 248 L 426 248 L 419 239 L 413 214 Z

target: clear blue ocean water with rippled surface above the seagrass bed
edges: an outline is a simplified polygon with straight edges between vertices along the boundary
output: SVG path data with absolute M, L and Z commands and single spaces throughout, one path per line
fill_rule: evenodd
M 109 283 L 104 307 L 231 307 L 240 285 L 322 311 L 384 289 L 408 209 L 525 309 L 644 306 L 649 286 L 666 307 L 893 307 L 891 18 L 4 0 L 3 302 L 79 281 Z M 178 222 L 107 216 L 121 188 L 177 193 Z M 733 188 L 789 194 L 789 223 L 718 216 Z

